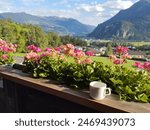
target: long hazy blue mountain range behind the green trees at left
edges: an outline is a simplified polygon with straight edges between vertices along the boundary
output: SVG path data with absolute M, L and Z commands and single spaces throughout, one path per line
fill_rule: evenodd
M 84 36 L 93 31 L 94 26 L 85 25 L 72 18 L 56 16 L 40 17 L 21 13 L 0 13 L 0 19 L 9 18 L 17 23 L 33 24 L 42 27 L 46 32 L 57 32 L 61 35 L 71 34 Z

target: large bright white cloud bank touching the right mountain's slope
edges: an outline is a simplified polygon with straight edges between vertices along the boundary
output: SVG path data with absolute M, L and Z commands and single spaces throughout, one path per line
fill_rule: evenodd
M 103 3 L 94 1 L 91 4 L 80 4 L 76 9 L 80 14 L 85 14 L 84 19 L 80 18 L 82 22 L 96 25 L 113 17 L 120 10 L 129 8 L 134 3 L 133 0 L 106 0 Z

